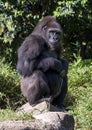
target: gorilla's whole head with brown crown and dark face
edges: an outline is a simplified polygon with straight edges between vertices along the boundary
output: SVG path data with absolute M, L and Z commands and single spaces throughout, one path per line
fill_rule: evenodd
M 40 35 L 44 38 L 50 50 L 60 49 L 62 30 L 54 17 L 46 16 L 39 21 L 33 34 Z

